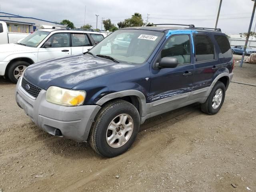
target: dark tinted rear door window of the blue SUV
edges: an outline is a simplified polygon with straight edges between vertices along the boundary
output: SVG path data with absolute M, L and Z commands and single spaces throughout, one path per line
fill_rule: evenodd
M 208 35 L 194 35 L 194 42 L 197 62 L 214 59 L 214 46 Z

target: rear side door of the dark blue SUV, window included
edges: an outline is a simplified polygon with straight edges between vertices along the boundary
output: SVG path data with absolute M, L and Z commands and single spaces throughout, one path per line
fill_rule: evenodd
M 204 96 L 207 87 L 212 84 L 213 78 L 218 74 L 218 69 L 220 68 L 216 48 L 208 34 L 194 34 L 194 46 L 195 73 L 192 91 L 201 91 L 194 92 L 191 99 Z

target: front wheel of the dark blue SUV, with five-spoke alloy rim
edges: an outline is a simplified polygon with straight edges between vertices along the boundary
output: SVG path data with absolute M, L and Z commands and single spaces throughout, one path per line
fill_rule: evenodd
M 120 124 L 122 120 L 124 124 Z M 90 131 L 89 142 L 101 156 L 115 157 L 132 146 L 139 129 L 140 115 L 136 107 L 124 100 L 115 100 L 101 108 Z

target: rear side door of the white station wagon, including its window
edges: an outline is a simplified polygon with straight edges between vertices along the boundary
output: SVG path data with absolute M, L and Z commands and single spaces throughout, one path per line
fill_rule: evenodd
M 86 33 L 71 33 L 72 55 L 82 54 L 92 48 L 92 42 Z

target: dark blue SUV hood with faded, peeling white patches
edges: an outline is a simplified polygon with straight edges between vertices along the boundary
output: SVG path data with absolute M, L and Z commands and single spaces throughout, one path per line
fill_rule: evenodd
M 71 89 L 90 79 L 132 67 L 135 65 L 81 54 L 30 65 L 24 73 L 24 78 L 45 90 L 50 86 Z

